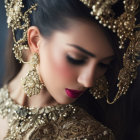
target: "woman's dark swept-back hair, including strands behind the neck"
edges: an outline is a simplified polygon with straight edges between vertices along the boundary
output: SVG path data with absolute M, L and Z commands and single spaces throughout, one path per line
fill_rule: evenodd
M 116 59 L 119 59 L 120 57 L 117 56 L 119 55 L 118 53 L 118 39 L 116 37 L 116 35 L 110 31 L 107 28 L 104 28 L 102 25 L 100 25 L 98 23 L 97 20 L 94 19 L 93 16 L 90 15 L 90 11 L 91 9 L 89 9 L 87 6 L 85 6 L 82 2 L 80 2 L 80 0 L 26 0 L 23 1 L 24 3 L 24 11 L 27 11 L 27 9 L 29 9 L 31 7 L 31 5 L 34 5 L 35 3 L 37 3 L 37 10 L 33 11 L 33 13 L 30 15 L 30 24 L 31 26 L 37 26 L 40 33 L 43 36 L 50 36 L 54 31 L 56 30 L 65 30 L 69 27 L 69 19 L 72 20 L 79 20 L 82 19 L 87 20 L 89 22 L 93 22 L 96 23 L 101 29 L 102 31 L 106 34 L 107 39 L 109 40 L 109 42 L 111 43 L 111 45 L 113 46 L 114 52 L 116 54 Z M 17 31 L 16 32 L 16 38 L 19 39 L 22 37 L 22 31 Z M 12 50 L 13 43 L 9 45 L 9 49 L 10 51 Z M 13 63 L 11 64 L 7 64 L 8 67 L 10 65 L 12 65 L 12 67 L 16 68 L 17 66 L 19 67 L 18 62 L 15 60 L 13 55 L 10 55 L 12 57 L 12 59 L 8 58 L 9 60 L 14 60 Z M 120 62 L 120 61 L 116 61 Z M 120 67 L 120 63 L 118 63 L 119 67 Z M 116 66 L 118 66 L 116 65 Z M 18 68 L 18 71 L 20 70 L 20 68 L 22 67 L 22 65 L 20 65 L 20 67 Z M 118 69 L 118 68 L 117 68 Z M 9 70 L 9 69 L 7 69 Z M 12 78 L 18 73 L 17 70 L 15 71 L 15 73 L 13 72 L 11 74 L 10 72 L 7 72 L 9 76 L 9 78 L 7 78 L 7 74 L 5 77 L 5 82 L 9 82 L 10 80 L 12 80 Z M 113 75 L 117 76 L 117 73 L 113 73 Z M 115 77 L 116 77 L 115 76 Z M 114 78 L 115 79 L 115 78 Z

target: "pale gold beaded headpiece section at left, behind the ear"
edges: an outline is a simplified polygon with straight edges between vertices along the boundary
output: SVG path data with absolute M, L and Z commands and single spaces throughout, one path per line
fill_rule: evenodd
M 24 8 L 22 0 L 5 0 L 5 9 L 7 15 L 8 28 L 11 27 L 14 40 L 14 54 L 16 59 L 24 62 L 22 58 L 22 50 L 29 49 L 27 45 L 27 30 L 30 27 L 29 14 L 36 10 L 37 4 L 31 6 L 27 11 L 22 13 Z M 22 31 L 23 36 L 17 40 L 15 36 L 16 31 Z

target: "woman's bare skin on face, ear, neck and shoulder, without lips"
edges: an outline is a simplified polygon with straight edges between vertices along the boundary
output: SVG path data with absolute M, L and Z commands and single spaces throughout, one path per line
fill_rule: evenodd
M 107 71 L 114 52 L 105 34 L 94 23 L 70 22 L 67 30 L 55 31 L 50 37 L 42 36 L 35 26 L 28 29 L 30 52 L 26 54 L 27 59 L 34 53 L 39 54 L 37 70 L 46 88 L 31 98 L 26 96 L 21 77 L 25 77 L 31 66 L 24 64 L 8 85 L 16 103 L 28 107 L 73 103 L 77 98 L 70 98 L 66 88 L 85 91 Z M 0 139 L 3 139 L 8 130 L 7 120 L 0 118 L 0 124 Z

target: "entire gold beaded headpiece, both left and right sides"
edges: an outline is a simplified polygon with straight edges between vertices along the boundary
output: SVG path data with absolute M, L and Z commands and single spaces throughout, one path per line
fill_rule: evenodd
M 118 46 L 120 49 L 126 48 L 126 52 L 123 56 L 123 68 L 119 72 L 118 76 L 118 92 L 112 102 L 107 97 L 108 103 L 114 103 L 121 95 L 126 94 L 130 84 L 136 78 L 137 67 L 140 61 L 137 57 L 140 55 L 140 31 L 136 31 L 140 25 L 136 25 L 136 17 L 140 0 L 124 0 L 124 12 L 115 17 L 115 12 L 112 10 L 112 6 L 119 0 L 80 0 L 86 6 L 91 8 L 91 15 L 95 17 L 104 27 L 108 27 L 114 33 L 117 34 L 120 41 Z M 28 49 L 27 45 L 27 29 L 29 28 L 29 14 L 32 10 L 36 9 L 36 4 L 31 6 L 27 11 L 22 13 L 22 0 L 5 0 L 7 22 L 8 26 L 12 28 L 14 37 L 14 53 L 16 58 L 20 62 L 24 62 L 22 59 L 22 50 Z M 119 9 L 118 9 L 119 10 Z M 23 30 L 23 38 L 16 41 L 15 31 Z M 125 41 L 129 40 L 128 47 L 125 46 Z

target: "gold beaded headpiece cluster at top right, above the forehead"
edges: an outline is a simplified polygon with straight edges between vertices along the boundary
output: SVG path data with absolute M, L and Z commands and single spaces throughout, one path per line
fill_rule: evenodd
M 120 46 L 124 48 L 124 42 L 127 39 L 131 39 L 134 35 L 135 28 L 135 12 L 138 9 L 140 1 L 124 0 L 125 12 L 115 18 L 115 13 L 111 9 L 111 6 L 118 2 L 118 0 L 80 0 L 85 5 L 92 9 L 91 15 L 95 16 L 99 23 L 104 27 L 108 27 L 113 32 L 117 33 L 119 37 Z M 94 1 L 94 2 L 93 2 Z

